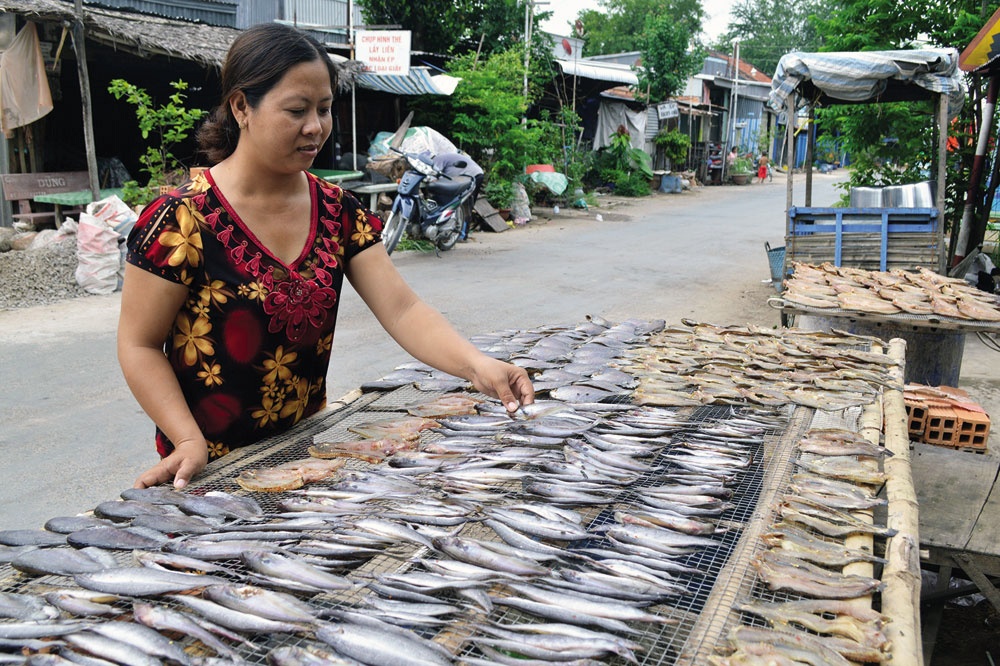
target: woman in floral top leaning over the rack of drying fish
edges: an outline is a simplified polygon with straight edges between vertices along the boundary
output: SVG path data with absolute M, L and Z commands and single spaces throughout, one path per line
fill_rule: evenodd
M 129 236 L 118 357 L 161 456 L 137 488 L 182 488 L 210 459 L 325 406 L 345 276 L 414 357 L 510 411 L 534 400 L 523 369 L 479 352 L 403 281 L 378 218 L 306 171 L 330 136 L 336 85 L 298 30 L 240 34 L 198 133 L 214 166 L 153 201 Z

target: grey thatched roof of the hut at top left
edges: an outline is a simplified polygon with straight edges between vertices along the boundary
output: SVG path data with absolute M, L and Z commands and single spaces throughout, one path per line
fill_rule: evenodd
M 61 23 L 75 18 L 73 3 L 60 0 L 0 0 L 0 11 L 31 21 Z M 88 5 L 83 15 L 88 39 L 143 57 L 165 55 L 214 68 L 222 67 L 229 45 L 240 32 Z

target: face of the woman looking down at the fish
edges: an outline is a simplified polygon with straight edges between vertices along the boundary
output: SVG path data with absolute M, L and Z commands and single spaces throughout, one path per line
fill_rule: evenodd
M 320 60 L 291 69 L 260 100 L 246 107 L 240 146 L 278 171 L 308 169 L 333 128 L 330 71 Z M 241 119 L 240 115 L 236 116 Z

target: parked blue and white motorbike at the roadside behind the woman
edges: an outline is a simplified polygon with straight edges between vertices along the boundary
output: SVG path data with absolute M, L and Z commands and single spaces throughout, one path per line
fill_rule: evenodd
M 467 231 L 476 181 L 468 176 L 449 176 L 436 169 L 426 153 L 396 152 L 409 168 L 399 179 L 396 199 L 382 228 L 385 251 L 392 254 L 403 231 L 410 238 L 431 241 L 439 250 L 450 250 Z M 465 164 L 456 166 L 463 168 Z

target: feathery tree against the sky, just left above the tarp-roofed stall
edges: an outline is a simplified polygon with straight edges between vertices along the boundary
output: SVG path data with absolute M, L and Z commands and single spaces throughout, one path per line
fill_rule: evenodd
M 817 17 L 832 5 L 832 0 L 739 0 L 730 8 L 729 26 L 715 47 L 728 53 L 739 40 L 741 60 L 774 74 L 784 54 L 820 50 Z

